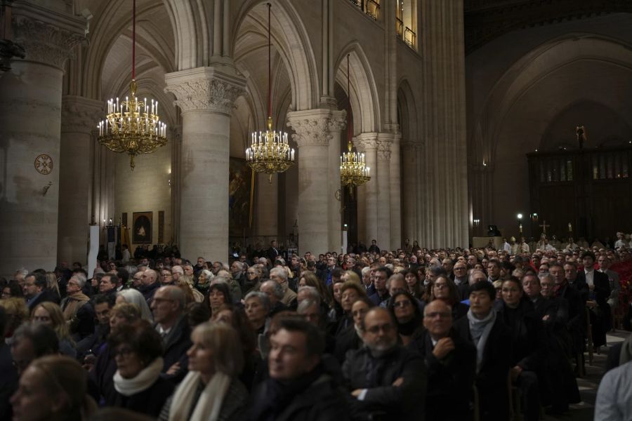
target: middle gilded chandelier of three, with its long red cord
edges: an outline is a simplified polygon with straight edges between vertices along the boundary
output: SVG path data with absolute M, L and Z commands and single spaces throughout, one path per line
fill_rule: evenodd
M 270 48 L 270 8 L 268 3 L 268 128 L 266 131 L 254 132 L 251 135 L 251 145 L 246 149 L 246 163 L 257 173 L 270 175 L 268 182 L 272 183 L 272 174 L 284 173 L 294 165 L 294 149 L 287 143 L 287 133 L 272 130 L 272 69 Z

